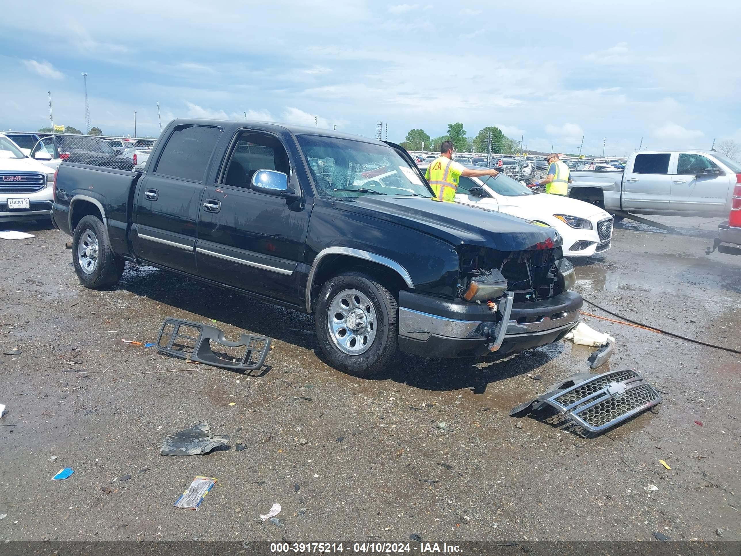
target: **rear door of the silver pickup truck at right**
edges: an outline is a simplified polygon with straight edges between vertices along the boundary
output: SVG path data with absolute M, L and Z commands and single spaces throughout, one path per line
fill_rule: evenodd
M 623 211 L 668 211 L 671 153 L 637 153 L 622 175 Z

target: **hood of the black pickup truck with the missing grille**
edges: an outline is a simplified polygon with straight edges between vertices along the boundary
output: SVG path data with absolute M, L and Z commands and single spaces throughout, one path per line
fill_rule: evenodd
M 556 236 L 553 228 L 516 216 L 421 197 L 364 195 L 354 202 L 335 202 L 335 208 L 412 228 L 451 245 L 480 245 L 498 251 L 524 251 Z

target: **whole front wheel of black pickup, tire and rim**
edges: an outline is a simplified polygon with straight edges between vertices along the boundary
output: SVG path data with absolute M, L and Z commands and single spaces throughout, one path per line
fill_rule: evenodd
M 398 311 L 393 294 L 369 274 L 351 271 L 330 278 L 316 302 L 319 346 L 341 371 L 361 378 L 379 374 L 396 357 Z

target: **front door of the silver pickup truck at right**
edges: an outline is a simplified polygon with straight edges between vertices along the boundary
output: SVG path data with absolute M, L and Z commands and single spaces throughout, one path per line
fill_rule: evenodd
M 726 216 L 728 189 L 736 175 L 728 173 L 700 153 L 676 153 L 672 166 L 672 211 L 698 216 Z M 731 181 L 732 179 L 732 181 Z

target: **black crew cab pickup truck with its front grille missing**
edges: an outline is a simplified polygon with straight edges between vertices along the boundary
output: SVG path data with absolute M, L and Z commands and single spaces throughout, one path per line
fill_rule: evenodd
M 64 162 L 53 222 L 87 288 L 142 262 L 315 314 L 337 368 L 397 351 L 508 353 L 579 320 L 552 228 L 433 200 L 393 143 L 316 128 L 176 119 L 146 172 Z

